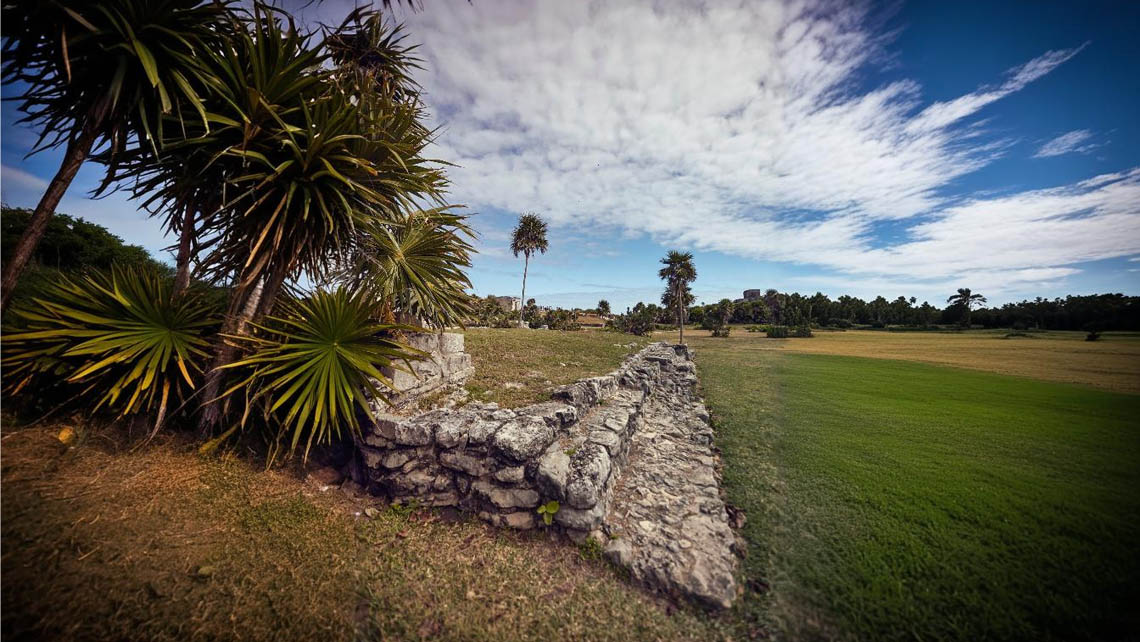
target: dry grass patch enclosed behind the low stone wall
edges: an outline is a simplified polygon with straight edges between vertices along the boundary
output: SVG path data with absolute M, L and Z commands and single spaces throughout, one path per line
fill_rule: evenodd
M 466 332 L 475 374 L 471 398 L 513 408 L 549 399 L 559 385 L 605 374 L 650 340 L 605 331 L 490 330 Z

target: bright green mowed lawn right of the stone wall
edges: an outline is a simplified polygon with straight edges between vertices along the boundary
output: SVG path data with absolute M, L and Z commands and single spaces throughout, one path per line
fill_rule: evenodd
M 692 341 L 748 512 L 749 626 L 1140 635 L 1140 396 L 772 343 Z

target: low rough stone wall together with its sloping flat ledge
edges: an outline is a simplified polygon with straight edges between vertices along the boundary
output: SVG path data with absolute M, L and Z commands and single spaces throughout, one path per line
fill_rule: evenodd
M 519 529 L 542 526 L 537 506 L 557 501 L 554 527 L 595 538 L 634 579 L 732 604 L 735 537 L 686 347 L 653 343 L 522 408 L 373 411 L 361 452 L 374 493 Z

